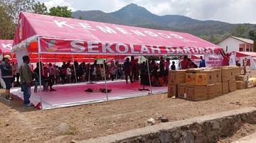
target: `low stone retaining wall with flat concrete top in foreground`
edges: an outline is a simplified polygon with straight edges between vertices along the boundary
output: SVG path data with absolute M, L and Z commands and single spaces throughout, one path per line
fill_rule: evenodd
M 219 137 L 233 135 L 243 123 L 256 123 L 256 108 L 241 108 L 188 120 L 160 123 L 82 142 L 218 142 Z

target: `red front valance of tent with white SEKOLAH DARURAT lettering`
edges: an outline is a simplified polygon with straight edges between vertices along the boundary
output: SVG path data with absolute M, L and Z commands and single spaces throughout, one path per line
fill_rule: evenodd
M 90 55 L 216 55 L 215 47 L 171 47 L 113 42 L 54 40 L 41 38 L 42 53 L 87 53 Z

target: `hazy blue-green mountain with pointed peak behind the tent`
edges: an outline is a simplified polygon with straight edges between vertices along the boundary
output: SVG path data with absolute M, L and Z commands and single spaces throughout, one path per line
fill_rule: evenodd
M 137 4 L 129 4 L 112 13 L 102 11 L 73 12 L 73 18 L 80 18 L 80 16 L 88 21 L 186 32 L 215 43 L 230 35 L 231 31 L 238 25 L 222 21 L 199 21 L 178 15 L 157 16 L 147 11 L 146 8 L 137 6 Z M 247 26 L 250 29 L 255 28 L 255 25 L 247 24 Z

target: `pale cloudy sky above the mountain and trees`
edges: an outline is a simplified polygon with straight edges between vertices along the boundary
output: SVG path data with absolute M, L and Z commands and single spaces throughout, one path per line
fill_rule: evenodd
M 255 0 L 38 0 L 49 8 L 68 6 L 72 11 L 118 11 L 137 4 L 159 16 L 181 15 L 197 20 L 256 23 Z

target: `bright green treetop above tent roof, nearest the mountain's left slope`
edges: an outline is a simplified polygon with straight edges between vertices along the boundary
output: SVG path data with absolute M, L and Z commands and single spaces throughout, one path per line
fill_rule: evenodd
M 71 18 L 72 12 L 70 9 L 68 9 L 68 6 L 54 6 L 50 8 L 50 12 L 48 13 L 48 15 Z

